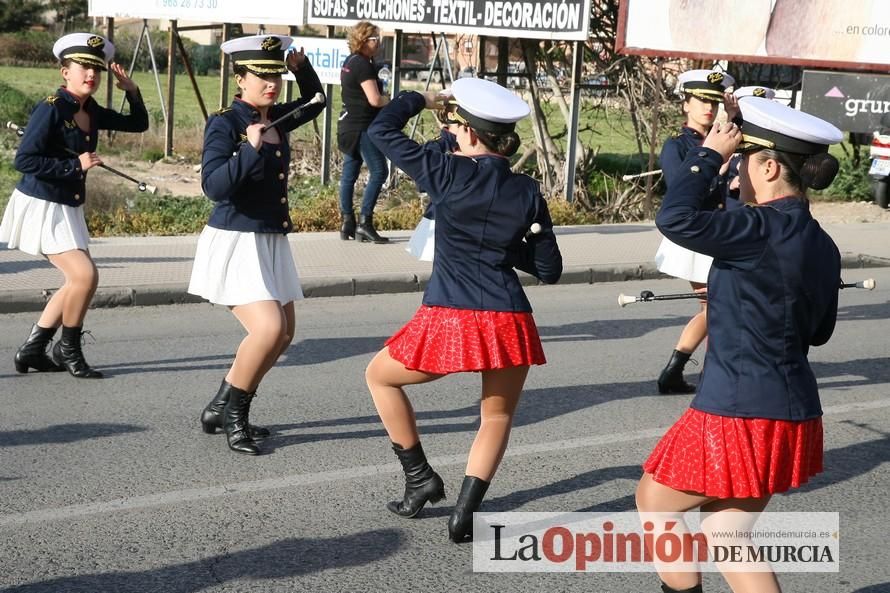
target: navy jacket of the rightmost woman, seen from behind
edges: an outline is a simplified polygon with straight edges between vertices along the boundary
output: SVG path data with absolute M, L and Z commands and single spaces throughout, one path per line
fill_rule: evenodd
M 840 253 L 795 196 L 703 210 L 720 165 L 713 150 L 692 152 L 655 218 L 671 241 L 714 257 L 708 352 L 691 405 L 743 418 L 821 416 L 807 353 L 834 331 Z

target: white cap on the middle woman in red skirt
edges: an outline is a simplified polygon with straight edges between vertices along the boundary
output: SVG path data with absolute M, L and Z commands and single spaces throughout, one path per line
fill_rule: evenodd
M 459 78 L 451 85 L 456 115 L 470 127 L 505 134 L 530 113 L 528 103 L 504 87 L 484 78 Z

